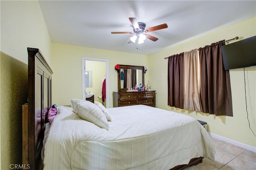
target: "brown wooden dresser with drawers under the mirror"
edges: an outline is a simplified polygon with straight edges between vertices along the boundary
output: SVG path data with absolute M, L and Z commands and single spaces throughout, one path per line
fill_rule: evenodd
M 113 106 L 131 106 L 144 104 L 147 106 L 156 107 L 156 91 L 143 92 L 113 92 Z

